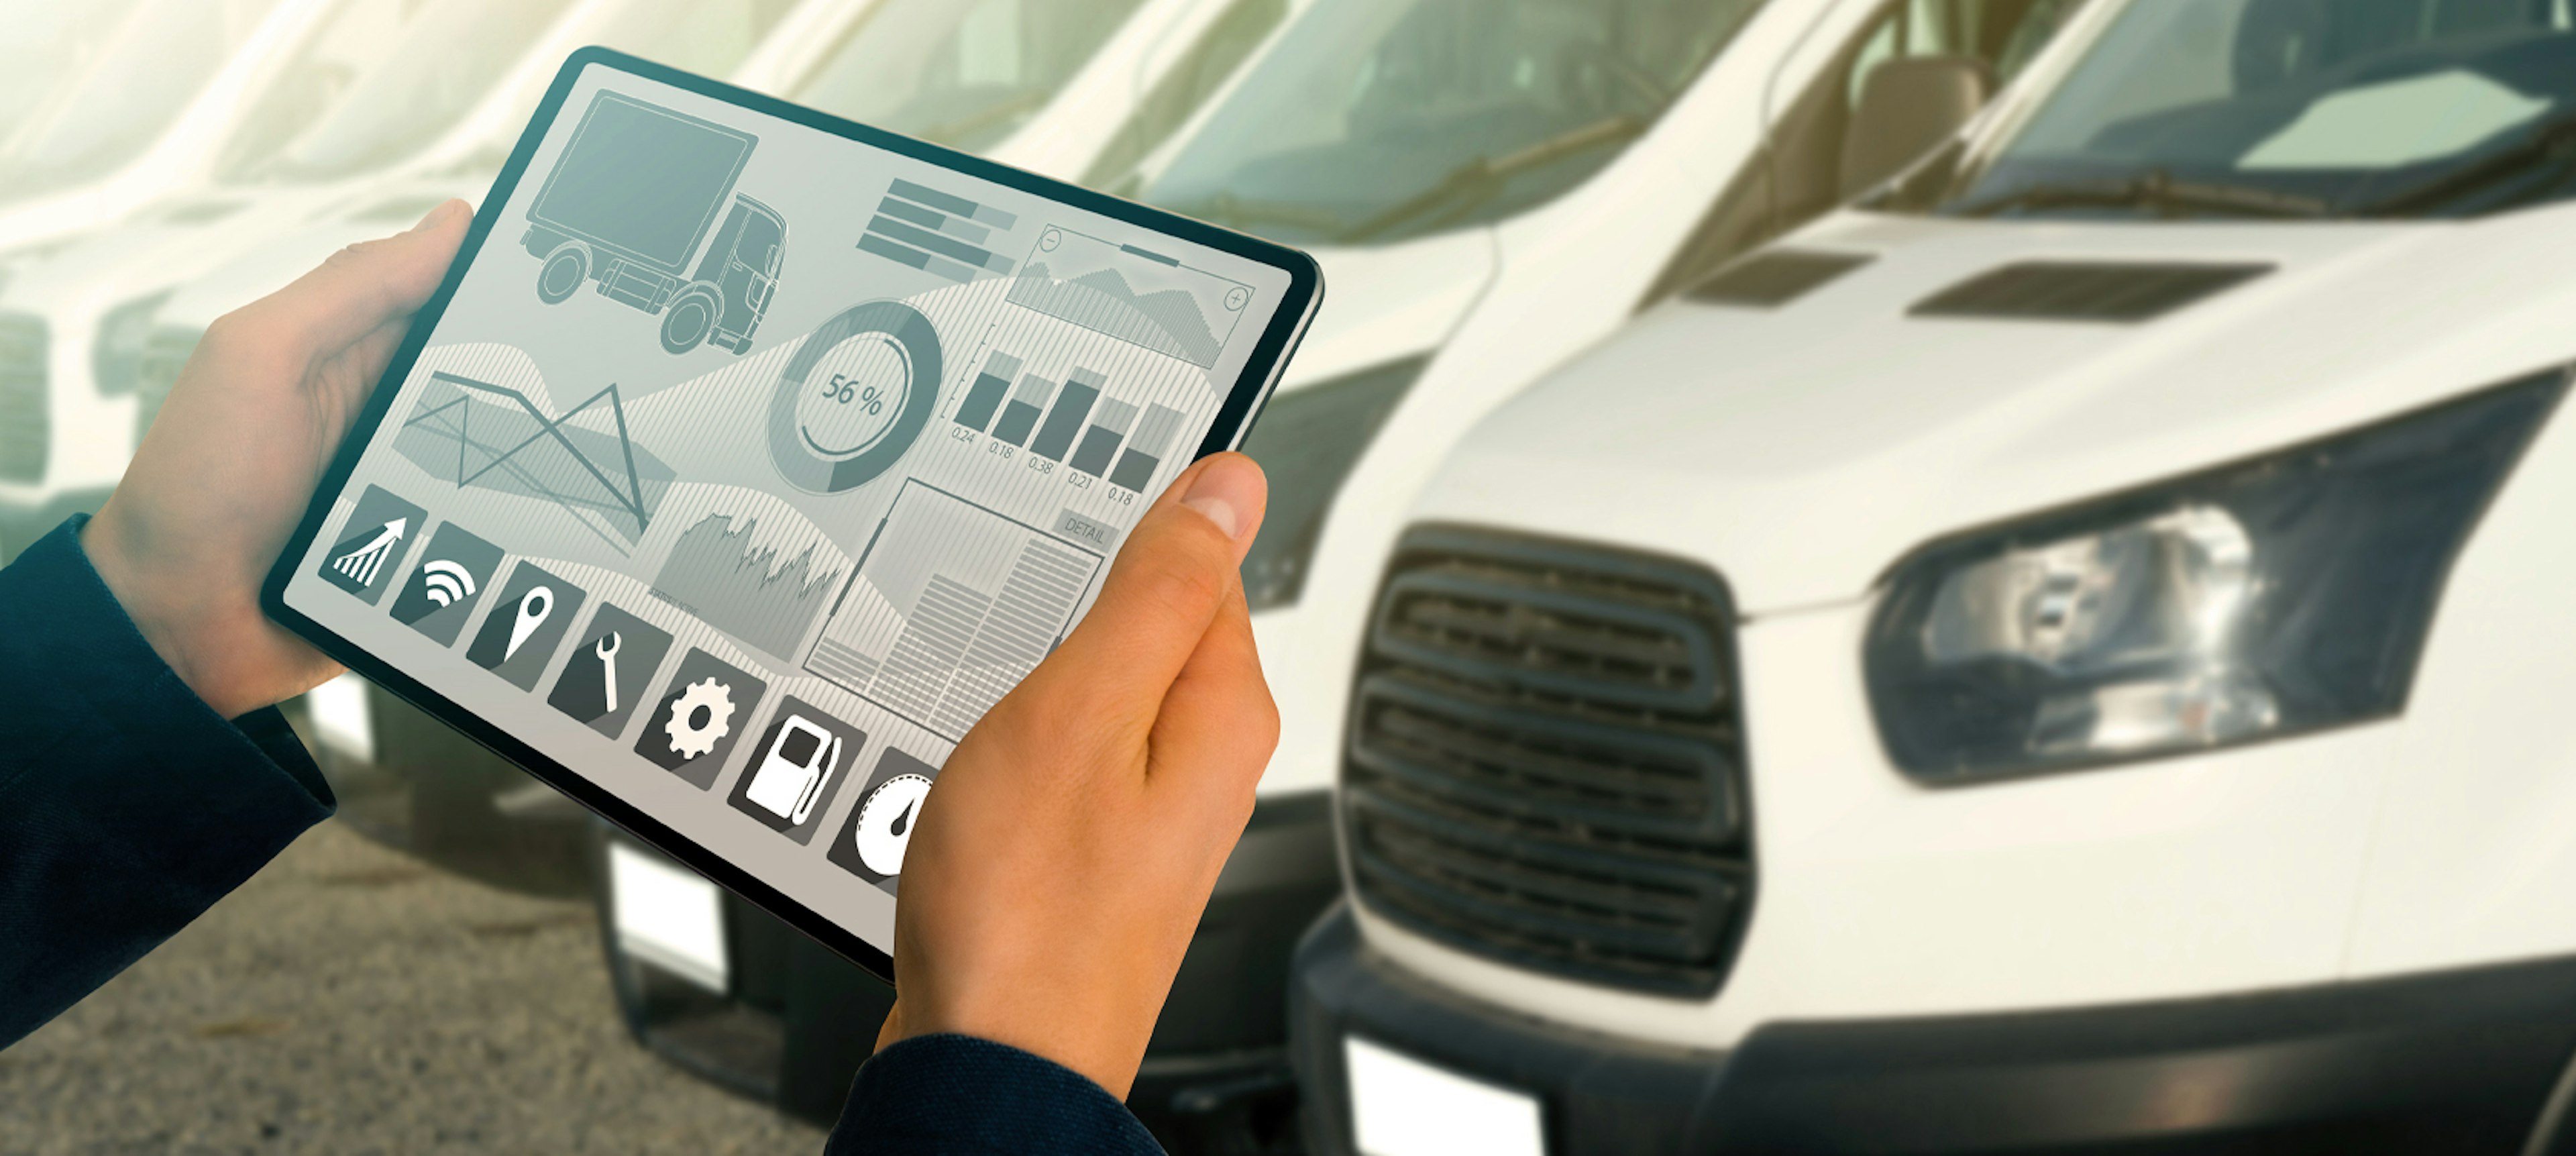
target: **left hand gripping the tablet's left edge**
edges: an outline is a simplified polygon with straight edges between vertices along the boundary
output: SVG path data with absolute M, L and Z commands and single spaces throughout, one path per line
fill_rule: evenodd
M 224 718 L 340 672 L 260 613 L 260 582 L 471 216 L 448 201 L 206 327 L 80 536 L 144 641 Z

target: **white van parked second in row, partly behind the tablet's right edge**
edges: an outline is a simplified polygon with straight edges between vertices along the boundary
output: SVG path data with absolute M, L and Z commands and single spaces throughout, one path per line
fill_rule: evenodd
M 1935 144 L 2071 8 L 1303 0 L 1113 183 L 1309 247 L 1332 286 L 1247 443 L 1273 492 L 1244 587 L 1288 723 L 1262 798 L 1332 783 L 1378 561 L 1476 417 Z M 1870 75 L 1935 57 L 1978 62 L 1927 95 L 1958 116 L 1847 131 Z

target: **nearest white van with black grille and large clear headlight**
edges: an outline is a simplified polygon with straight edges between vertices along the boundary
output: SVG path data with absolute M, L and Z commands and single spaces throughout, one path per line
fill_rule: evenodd
M 2566 3 L 2107 0 L 1481 422 L 1314 1151 L 2568 1151 L 2571 126 Z

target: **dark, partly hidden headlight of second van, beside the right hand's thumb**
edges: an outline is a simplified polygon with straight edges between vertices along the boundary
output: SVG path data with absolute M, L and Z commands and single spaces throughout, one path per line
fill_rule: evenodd
M 1270 476 L 1270 512 L 1262 515 L 1262 536 L 1244 554 L 1244 600 L 1252 610 L 1291 605 L 1306 590 L 1306 564 L 1324 536 L 1332 497 L 1427 363 L 1430 358 L 1391 360 L 1273 394 L 1262 407 L 1244 438 L 1244 453 Z

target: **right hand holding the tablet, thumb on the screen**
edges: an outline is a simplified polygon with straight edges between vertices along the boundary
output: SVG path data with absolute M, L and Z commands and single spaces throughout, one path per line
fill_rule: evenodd
M 1278 747 L 1236 569 L 1267 494 L 1242 453 L 1182 471 L 1082 626 L 948 757 L 904 852 L 878 1048 L 979 1035 L 1126 1097 Z

